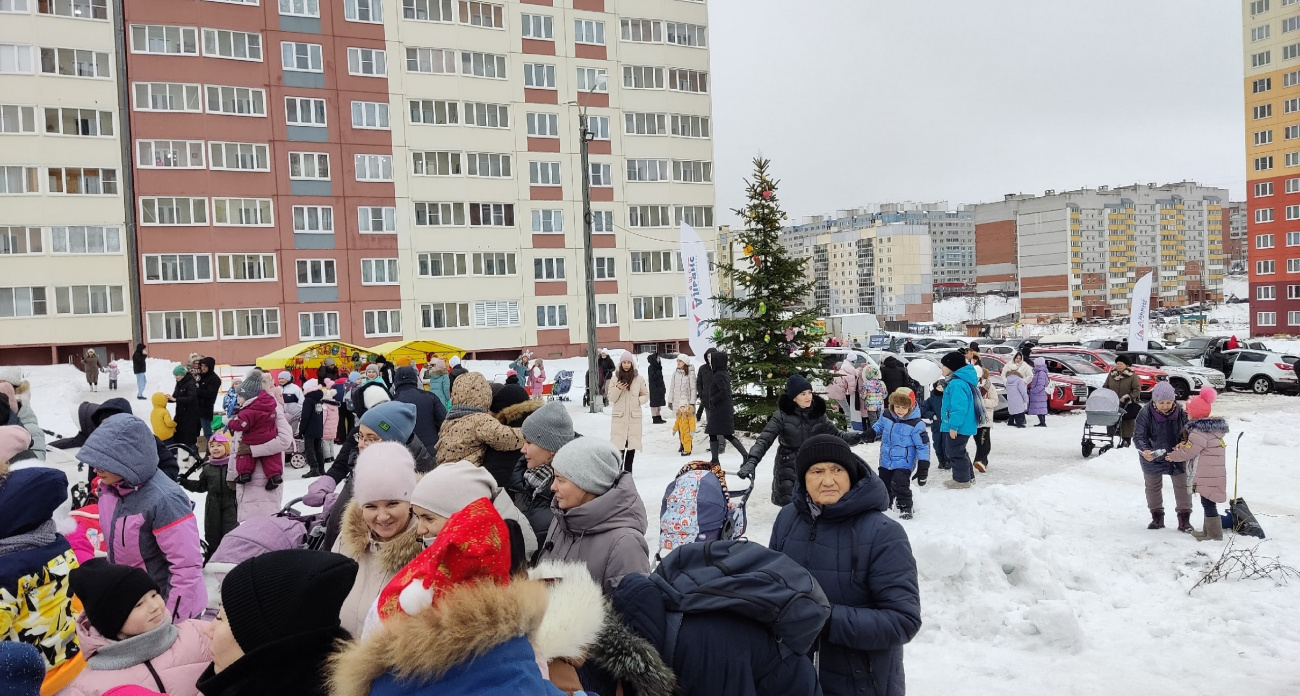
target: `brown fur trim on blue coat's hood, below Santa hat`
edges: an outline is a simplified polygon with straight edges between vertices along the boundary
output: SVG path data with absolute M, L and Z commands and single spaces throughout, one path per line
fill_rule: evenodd
M 395 615 L 382 631 L 335 653 L 328 663 L 330 693 L 368 696 L 372 682 L 390 673 L 403 682 L 437 682 L 458 665 L 533 635 L 546 605 L 546 583 L 537 580 L 458 587 L 436 606 Z

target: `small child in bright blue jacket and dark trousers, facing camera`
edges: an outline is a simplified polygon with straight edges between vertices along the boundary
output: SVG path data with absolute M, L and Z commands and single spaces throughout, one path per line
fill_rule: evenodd
M 880 481 L 889 490 L 889 506 L 898 501 L 898 516 L 911 519 L 911 471 L 926 485 L 930 474 L 930 433 L 913 395 L 904 389 L 889 394 L 889 410 L 872 425 L 880 436 Z

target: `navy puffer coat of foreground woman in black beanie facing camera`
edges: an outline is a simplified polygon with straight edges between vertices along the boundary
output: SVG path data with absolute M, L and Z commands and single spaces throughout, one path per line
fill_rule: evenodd
M 809 569 L 832 602 L 820 643 L 822 691 L 904 696 L 902 647 L 920 630 L 916 559 L 902 526 L 884 515 L 884 484 L 855 459 L 858 483 L 815 519 L 801 471 L 768 546 Z

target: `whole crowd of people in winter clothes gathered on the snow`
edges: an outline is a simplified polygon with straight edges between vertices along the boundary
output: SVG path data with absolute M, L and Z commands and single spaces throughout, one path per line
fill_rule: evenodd
M 719 350 L 698 367 L 676 356 L 667 377 L 659 355 L 646 375 L 630 353 L 611 359 L 608 438 L 581 436 L 564 403 L 536 398 L 545 367 L 526 354 L 503 384 L 459 359 L 350 375 L 326 360 L 296 379 L 252 369 L 220 408 L 214 364 L 192 358 L 148 422 L 125 399 L 83 405 L 81 432 L 52 444 L 77 449 L 92 477 L 92 502 L 72 515 L 66 475 L 40 466 L 29 388 L 0 372 L 0 680 L 25 689 L 9 692 L 902 695 L 919 583 L 885 513 L 916 514 L 910 485 L 926 485 L 931 459 L 952 472 L 948 488 L 970 488 L 989 467 L 997 407 L 978 346 L 944 355 L 933 384 L 894 358 L 837 366 L 828 394 L 852 416 L 844 429 L 792 375 L 748 449 Z M 1184 406 L 1162 382 L 1141 406 L 1130 364 L 1106 386 L 1135 405 L 1124 440 L 1150 528 L 1164 527 L 1167 476 L 1178 528 L 1222 539 L 1216 393 Z M 1006 364 L 1009 425 L 1043 423 L 1045 373 L 1028 354 Z M 716 474 L 725 493 L 725 442 L 750 480 L 776 446 L 781 510 L 766 548 L 701 523 L 689 540 L 719 546 L 680 545 L 651 575 L 633 477 L 644 406 L 650 427 L 673 414 L 688 457 L 703 416 L 711 461 L 686 464 L 679 487 Z M 277 544 L 259 529 L 287 528 L 277 520 L 295 440 L 318 539 Z M 868 441 L 880 442 L 875 466 L 853 451 Z M 198 480 L 178 475 L 168 444 L 204 453 Z M 207 494 L 203 529 L 185 489 Z

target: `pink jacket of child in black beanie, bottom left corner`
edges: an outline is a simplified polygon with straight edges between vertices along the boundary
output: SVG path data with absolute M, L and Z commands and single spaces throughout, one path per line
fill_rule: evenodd
M 62 691 L 62 696 L 101 696 L 121 686 L 142 686 L 169 696 L 199 696 L 194 686 L 212 663 L 212 647 L 207 622 L 190 619 L 176 624 L 177 639 L 162 654 L 143 660 L 147 647 L 133 649 L 127 640 L 108 640 L 90 624 L 86 613 L 77 615 L 77 640 L 86 657 L 86 669 Z M 142 650 L 144 650 L 142 653 Z M 125 666 L 122 666 L 125 665 Z M 150 673 L 157 673 L 159 684 Z

